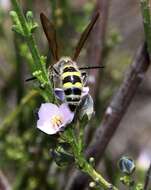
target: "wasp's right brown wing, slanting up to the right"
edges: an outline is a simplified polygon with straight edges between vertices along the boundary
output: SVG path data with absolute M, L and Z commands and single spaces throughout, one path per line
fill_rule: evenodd
M 93 29 L 94 24 L 96 23 L 97 19 L 99 18 L 99 15 L 100 15 L 100 13 L 97 12 L 96 15 L 92 18 L 91 22 L 85 28 L 84 32 L 82 33 L 80 40 L 76 46 L 74 56 L 73 56 L 73 60 L 76 60 L 78 58 L 80 51 L 81 51 L 82 47 L 84 46 L 85 41 L 87 40 L 90 32 Z

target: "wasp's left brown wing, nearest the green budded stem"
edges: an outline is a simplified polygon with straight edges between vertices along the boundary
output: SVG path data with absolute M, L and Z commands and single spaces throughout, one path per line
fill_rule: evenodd
M 43 26 L 45 35 L 47 37 L 47 40 L 49 42 L 49 47 L 51 49 L 53 58 L 55 61 L 58 61 L 59 60 L 58 43 L 57 43 L 55 27 L 53 23 L 50 22 L 49 19 L 43 13 L 40 13 L 40 20 L 41 20 L 41 24 Z

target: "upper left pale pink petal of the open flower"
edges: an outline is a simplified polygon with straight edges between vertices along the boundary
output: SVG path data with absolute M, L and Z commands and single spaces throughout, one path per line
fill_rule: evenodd
M 54 114 L 58 113 L 58 106 L 52 103 L 45 103 L 40 106 L 38 117 L 42 120 L 50 119 Z

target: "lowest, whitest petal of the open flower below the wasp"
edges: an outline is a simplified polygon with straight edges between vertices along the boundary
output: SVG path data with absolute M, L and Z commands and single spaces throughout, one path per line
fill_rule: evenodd
M 44 122 L 42 122 L 41 120 L 38 120 L 37 128 L 48 135 L 56 134 L 60 130 L 58 127 L 52 126 L 50 120 L 47 120 Z

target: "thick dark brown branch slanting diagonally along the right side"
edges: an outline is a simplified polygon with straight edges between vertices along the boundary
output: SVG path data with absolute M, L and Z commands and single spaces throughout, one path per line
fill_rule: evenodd
M 142 82 L 146 71 L 148 70 L 150 61 L 147 53 L 146 44 L 143 44 L 129 68 L 123 83 L 121 84 L 117 94 L 113 97 L 108 106 L 102 124 L 96 130 L 90 146 L 86 150 L 86 156 L 94 157 L 96 164 L 102 158 L 108 143 L 113 137 L 116 129 L 119 127 L 128 106 L 130 105 L 140 83 Z M 74 173 L 74 177 L 68 184 L 68 190 L 84 189 L 89 178 L 80 173 Z

